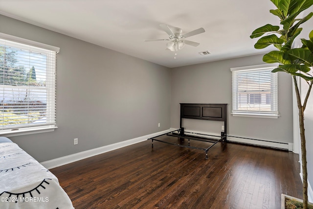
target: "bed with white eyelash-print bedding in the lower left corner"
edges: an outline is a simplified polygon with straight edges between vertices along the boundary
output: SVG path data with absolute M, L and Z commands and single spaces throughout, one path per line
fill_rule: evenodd
M 73 209 L 49 170 L 10 139 L 0 137 L 0 209 Z

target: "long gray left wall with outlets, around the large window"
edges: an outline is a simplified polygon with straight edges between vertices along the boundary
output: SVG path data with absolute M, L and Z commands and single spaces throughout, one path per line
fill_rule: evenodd
M 169 129 L 170 69 L 1 15 L 0 32 L 60 47 L 58 128 L 10 138 L 39 162 Z

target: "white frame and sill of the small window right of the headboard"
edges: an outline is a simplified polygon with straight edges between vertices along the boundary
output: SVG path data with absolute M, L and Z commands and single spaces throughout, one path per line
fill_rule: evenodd
M 232 116 L 246 116 L 246 117 L 265 117 L 265 118 L 278 118 L 278 73 L 270 72 L 270 111 L 257 111 L 252 110 L 252 108 L 248 108 L 247 110 L 239 110 L 238 107 L 239 100 L 241 99 L 238 91 L 238 80 L 236 80 L 236 73 L 240 72 L 253 72 L 253 71 L 262 71 L 262 70 L 273 70 L 278 67 L 278 64 L 263 64 L 263 65 L 255 65 L 255 66 L 245 66 L 245 67 L 238 67 L 238 68 L 231 68 L 232 72 Z M 258 93 L 260 95 L 260 99 L 262 100 L 262 94 L 260 94 L 261 90 L 253 91 L 253 90 L 246 90 L 248 93 L 246 93 L 246 105 L 248 106 L 249 102 L 248 100 L 251 99 L 251 95 L 253 92 Z M 268 95 L 265 94 L 264 101 L 266 104 L 268 104 Z M 254 104 L 256 104 L 256 100 L 258 98 L 254 97 L 252 98 L 254 101 Z M 261 101 L 260 100 L 260 101 Z

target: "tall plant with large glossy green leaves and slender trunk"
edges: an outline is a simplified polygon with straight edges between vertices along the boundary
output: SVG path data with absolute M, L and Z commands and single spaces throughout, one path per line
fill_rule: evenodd
M 304 130 L 304 111 L 313 85 L 313 30 L 310 32 L 308 40 L 301 39 L 301 46 L 294 46 L 294 41 L 303 29 L 300 25 L 308 21 L 313 16 L 313 12 L 300 19 L 297 17 L 301 12 L 313 5 L 313 0 L 271 1 L 277 9 L 269 10 L 269 12 L 280 19 L 280 26 L 266 24 L 255 29 L 250 38 L 261 37 L 254 45 L 257 49 L 262 49 L 271 45 L 275 46 L 277 49 L 265 54 L 263 56 L 263 61 L 266 63 L 278 63 L 278 68 L 272 70 L 272 72 L 286 72 L 292 76 L 299 113 L 303 175 L 303 208 L 307 209 L 308 172 Z M 297 78 L 304 79 L 309 86 L 305 98 L 301 98 Z

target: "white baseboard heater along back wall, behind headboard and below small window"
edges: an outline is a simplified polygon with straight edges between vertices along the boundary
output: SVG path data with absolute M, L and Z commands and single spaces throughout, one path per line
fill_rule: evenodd
M 170 128 L 170 131 L 177 130 L 177 128 Z M 221 136 L 221 133 L 205 133 L 205 132 L 199 132 L 199 131 L 193 131 L 193 130 L 186 130 L 185 132 L 192 132 L 192 133 L 199 133 L 204 135 L 213 135 L 213 136 Z M 244 144 L 251 144 L 251 145 L 258 145 L 258 146 L 264 146 L 264 147 L 271 147 L 276 149 L 284 149 L 288 151 L 292 151 L 293 143 L 291 142 L 284 142 L 284 141 L 274 141 L 274 140 L 268 140 L 268 139 L 253 139 L 253 138 L 245 138 L 245 137 L 239 137 L 239 136 L 229 136 L 227 135 L 228 141 L 238 142 L 238 143 L 244 143 Z

